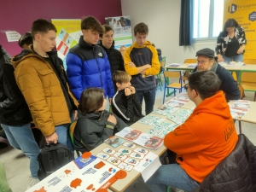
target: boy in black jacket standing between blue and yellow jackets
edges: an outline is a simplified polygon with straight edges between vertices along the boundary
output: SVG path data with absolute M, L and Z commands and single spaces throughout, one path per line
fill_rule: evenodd
M 111 67 L 111 74 L 116 71 L 125 71 L 124 59 L 121 52 L 118 49 L 114 49 L 113 41 L 113 28 L 108 25 L 102 26 L 105 29 L 103 34 L 100 34 L 99 45 L 106 51 L 108 55 L 108 61 Z

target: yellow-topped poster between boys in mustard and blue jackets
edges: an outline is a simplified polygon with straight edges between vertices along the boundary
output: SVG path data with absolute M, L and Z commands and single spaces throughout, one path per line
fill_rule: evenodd
M 82 35 L 81 20 L 52 19 L 51 22 L 57 29 L 56 49 L 66 70 L 67 53 L 70 48 L 79 43 L 79 38 Z

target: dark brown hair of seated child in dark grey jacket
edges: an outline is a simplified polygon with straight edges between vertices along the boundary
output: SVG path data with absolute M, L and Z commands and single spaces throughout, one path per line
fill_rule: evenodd
M 102 108 L 104 102 L 103 93 L 104 90 L 99 88 L 85 89 L 80 97 L 79 110 L 85 115 Z

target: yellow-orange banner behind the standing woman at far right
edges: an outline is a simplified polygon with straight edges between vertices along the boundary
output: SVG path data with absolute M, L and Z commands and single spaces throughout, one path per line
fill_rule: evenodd
M 243 27 L 247 38 L 244 59 L 256 59 L 256 3 L 255 0 L 225 0 L 224 23 L 233 18 Z

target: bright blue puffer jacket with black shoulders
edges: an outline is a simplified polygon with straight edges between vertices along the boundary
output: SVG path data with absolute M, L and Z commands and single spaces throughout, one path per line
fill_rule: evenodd
M 67 54 L 67 79 L 78 101 L 83 90 L 89 87 L 102 88 L 108 98 L 114 95 L 108 55 L 102 47 L 87 44 L 83 36 Z

